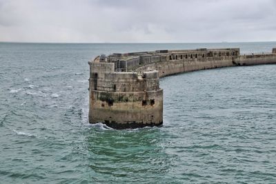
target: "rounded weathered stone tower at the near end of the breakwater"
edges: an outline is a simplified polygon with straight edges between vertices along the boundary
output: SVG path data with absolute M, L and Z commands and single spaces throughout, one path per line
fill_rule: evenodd
M 90 62 L 90 123 L 133 128 L 163 123 L 158 71 L 114 72 L 114 63 Z

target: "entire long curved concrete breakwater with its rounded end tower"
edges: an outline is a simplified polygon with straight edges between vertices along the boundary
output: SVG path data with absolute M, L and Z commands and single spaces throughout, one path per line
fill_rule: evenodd
M 101 55 L 90 65 L 89 122 L 114 128 L 163 123 L 159 77 L 227 66 L 276 63 L 269 54 L 241 55 L 239 48 L 156 50 Z

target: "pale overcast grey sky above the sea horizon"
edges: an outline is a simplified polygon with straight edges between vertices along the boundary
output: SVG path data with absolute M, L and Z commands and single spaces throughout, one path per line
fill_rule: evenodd
M 0 0 L 0 41 L 276 41 L 276 1 Z

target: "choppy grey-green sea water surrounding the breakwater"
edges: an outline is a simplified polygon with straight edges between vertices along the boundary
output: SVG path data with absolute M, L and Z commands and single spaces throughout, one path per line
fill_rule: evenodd
M 88 124 L 97 54 L 276 43 L 0 43 L 0 183 L 276 183 L 276 65 L 168 76 L 164 126 Z

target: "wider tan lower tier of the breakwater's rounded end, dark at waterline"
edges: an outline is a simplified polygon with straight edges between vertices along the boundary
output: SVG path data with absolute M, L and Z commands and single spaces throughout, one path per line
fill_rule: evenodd
M 151 92 L 100 92 L 90 96 L 90 123 L 135 128 L 163 123 L 163 90 Z

